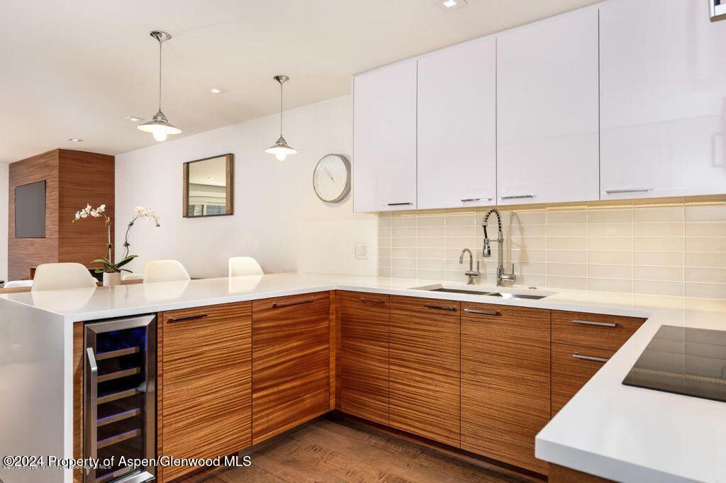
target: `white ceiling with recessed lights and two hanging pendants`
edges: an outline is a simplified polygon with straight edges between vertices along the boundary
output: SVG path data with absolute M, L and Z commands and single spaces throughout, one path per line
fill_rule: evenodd
M 163 110 L 186 136 L 274 113 L 278 73 L 286 107 L 306 105 L 347 94 L 354 73 L 597 1 L 1 0 L 0 162 L 154 144 L 123 118 L 156 112 L 155 29 L 174 36 Z

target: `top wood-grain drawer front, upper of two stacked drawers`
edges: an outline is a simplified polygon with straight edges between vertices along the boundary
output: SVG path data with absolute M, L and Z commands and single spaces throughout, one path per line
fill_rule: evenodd
M 645 319 L 584 312 L 552 311 L 552 341 L 616 351 Z

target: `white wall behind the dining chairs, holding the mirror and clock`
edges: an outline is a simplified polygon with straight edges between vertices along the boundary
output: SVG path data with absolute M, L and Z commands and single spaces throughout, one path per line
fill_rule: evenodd
M 155 208 L 161 227 L 131 230 L 132 269 L 178 259 L 192 277 L 227 276 L 229 256 L 254 256 L 265 272 L 375 275 L 377 216 L 354 214 L 350 196 L 331 205 L 312 188 L 315 163 L 328 153 L 350 158 L 352 97 L 285 112 L 285 137 L 300 152 L 277 161 L 263 152 L 279 136 L 279 116 L 247 121 L 116 156 L 116 253 L 136 205 Z M 184 126 L 181 126 L 182 129 Z M 182 163 L 234 154 L 234 215 L 181 216 Z M 354 244 L 369 244 L 356 260 Z

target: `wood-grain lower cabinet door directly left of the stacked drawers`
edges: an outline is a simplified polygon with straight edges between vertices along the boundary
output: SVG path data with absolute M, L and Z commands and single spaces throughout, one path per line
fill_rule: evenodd
M 462 450 L 547 474 L 534 437 L 550 421 L 550 312 L 462 303 Z

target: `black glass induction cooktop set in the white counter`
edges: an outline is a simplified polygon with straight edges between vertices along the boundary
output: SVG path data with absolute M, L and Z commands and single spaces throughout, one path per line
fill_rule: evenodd
M 623 383 L 726 402 L 726 330 L 662 326 Z

